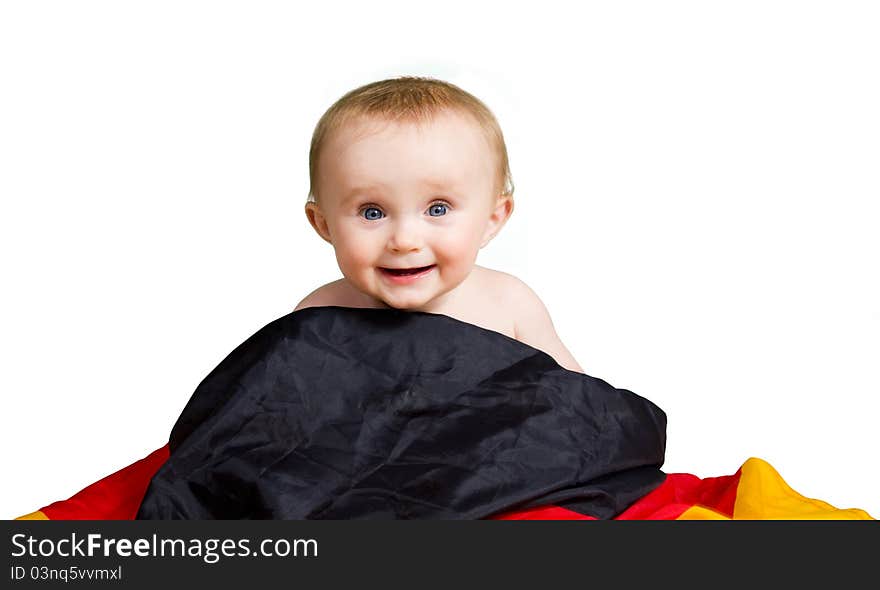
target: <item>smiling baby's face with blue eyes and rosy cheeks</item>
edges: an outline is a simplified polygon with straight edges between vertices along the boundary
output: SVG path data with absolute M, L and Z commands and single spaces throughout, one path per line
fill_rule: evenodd
M 477 124 L 442 113 L 421 127 L 362 120 L 328 138 L 319 202 L 306 212 L 345 278 L 398 309 L 454 297 L 512 208 Z

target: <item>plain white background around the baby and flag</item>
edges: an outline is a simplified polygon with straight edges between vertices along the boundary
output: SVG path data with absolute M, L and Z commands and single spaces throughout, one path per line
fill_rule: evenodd
M 516 210 L 478 262 L 666 410 L 667 472 L 757 456 L 880 516 L 876 4 L 524 6 L 3 3 L 0 517 L 163 445 L 339 276 L 303 214 L 311 133 L 404 74 L 495 112 Z

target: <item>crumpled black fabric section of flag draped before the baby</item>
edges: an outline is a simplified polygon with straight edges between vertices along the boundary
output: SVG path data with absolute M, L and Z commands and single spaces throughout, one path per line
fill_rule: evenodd
M 444 315 L 307 308 L 196 388 L 140 519 L 611 518 L 665 475 L 666 415 Z

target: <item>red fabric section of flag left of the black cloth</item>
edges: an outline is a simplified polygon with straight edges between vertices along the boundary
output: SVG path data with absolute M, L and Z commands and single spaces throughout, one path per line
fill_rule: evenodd
M 49 520 L 133 520 L 153 474 L 168 459 L 168 445 L 40 510 Z

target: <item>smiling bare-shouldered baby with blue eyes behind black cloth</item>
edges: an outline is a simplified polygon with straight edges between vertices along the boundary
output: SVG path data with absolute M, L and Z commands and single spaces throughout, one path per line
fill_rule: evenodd
M 309 180 L 306 216 L 333 246 L 343 278 L 310 293 L 297 310 L 444 314 L 583 373 L 534 291 L 475 264 L 513 212 L 504 137 L 479 99 L 430 78 L 352 90 L 315 128 Z

